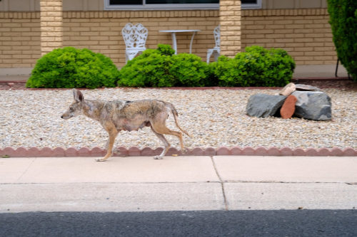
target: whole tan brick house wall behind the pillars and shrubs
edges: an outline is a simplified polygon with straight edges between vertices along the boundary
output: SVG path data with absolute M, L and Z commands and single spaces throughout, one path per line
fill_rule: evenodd
M 64 11 L 63 44 L 104 53 L 121 67 L 125 64 L 121 28 L 127 22 L 149 29 L 147 48 L 171 44 L 169 33 L 159 30 L 194 28 L 201 32 L 193 41 L 193 53 L 206 60 L 207 49 L 214 46 L 218 14 L 218 10 Z M 336 63 L 326 9 L 243 10 L 241 20 L 242 48 L 284 48 L 298 65 Z M 188 53 L 190 39 L 190 34 L 178 33 L 178 53 Z M 40 56 L 39 12 L 0 12 L 0 68 L 32 68 Z

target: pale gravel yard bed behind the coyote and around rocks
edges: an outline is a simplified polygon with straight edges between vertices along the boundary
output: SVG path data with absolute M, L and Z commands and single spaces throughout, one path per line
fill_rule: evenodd
M 248 117 L 246 102 L 256 93 L 279 90 L 165 90 L 106 88 L 83 90 L 86 99 L 172 102 L 178 122 L 192 137 L 183 135 L 186 147 L 352 147 L 357 149 L 356 90 L 326 88 L 332 100 L 331 121 L 301 118 Z M 107 135 L 99 122 L 81 115 L 62 120 L 71 104 L 71 90 L 1 90 L 0 147 L 105 147 Z M 172 116 L 168 127 L 177 130 Z M 176 137 L 166 136 L 179 148 Z M 116 147 L 162 147 L 144 127 L 138 132 L 121 132 Z

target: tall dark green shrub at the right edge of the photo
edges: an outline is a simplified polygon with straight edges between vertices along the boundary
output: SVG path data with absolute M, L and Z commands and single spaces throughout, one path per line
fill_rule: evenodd
M 357 1 L 328 0 L 328 14 L 337 56 L 357 81 Z

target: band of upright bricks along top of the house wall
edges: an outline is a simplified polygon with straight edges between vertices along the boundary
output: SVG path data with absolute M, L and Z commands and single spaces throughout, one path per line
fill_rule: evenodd
M 243 9 L 242 16 L 328 16 L 327 9 Z M 65 19 L 141 17 L 219 17 L 219 10 L 191 11 L 64 11 Z M 0 19 L 39 19 L 39 11 L 0 11 Z

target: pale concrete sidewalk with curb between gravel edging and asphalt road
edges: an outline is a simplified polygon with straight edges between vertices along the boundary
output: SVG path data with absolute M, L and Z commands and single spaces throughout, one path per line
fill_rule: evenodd
M 356 209 L 357 157 L 0 159 L 0 212 Z

